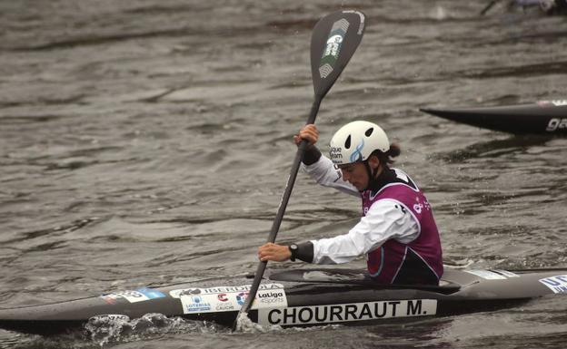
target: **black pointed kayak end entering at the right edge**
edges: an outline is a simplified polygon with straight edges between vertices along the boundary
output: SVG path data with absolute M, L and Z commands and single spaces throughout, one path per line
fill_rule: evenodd
M 422 108 L 420 111 L 493 131 L 567 135 L 567 101 L 460 109 Z

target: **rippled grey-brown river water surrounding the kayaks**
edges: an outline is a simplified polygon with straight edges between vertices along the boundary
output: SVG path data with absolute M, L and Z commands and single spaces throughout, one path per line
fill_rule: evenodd
M 311 30 L 342 7 L 368 26 L 323 101 L 321 148 L 347 121 L 381 124 L 433 204 L 448 265 L 566 267 L 567 139 L 418 111 L 567 97 L 566 19 L 483 5 L 1 1 L 0 307 L 254 271 L 312 102 Z M 300 175 L 278 241 L 341 234 L 359 214 Z M 566 312 L 557 296 L 407 325 L 172 323 L 104 346 L 564 348 Z M 100 344 L 0 330 L 2 348 Z

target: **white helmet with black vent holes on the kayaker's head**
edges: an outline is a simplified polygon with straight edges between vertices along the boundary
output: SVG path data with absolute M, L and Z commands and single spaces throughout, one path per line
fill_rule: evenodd
M 331 160 L 335 165 L 364 161 L 374 150 L 386 152 L 390 141 L 382 128 L 373 122 L 353 121 L 336 131 L 329 143 Z

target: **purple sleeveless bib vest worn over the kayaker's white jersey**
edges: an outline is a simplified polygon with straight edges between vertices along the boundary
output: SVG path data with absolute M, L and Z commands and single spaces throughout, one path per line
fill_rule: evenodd
M 443 275 L 441 241 L 432 208 L 423 192 L 393 182 L 374 195 L 371 190 L 365 190 L 362 197 L 363 215 L 374 202 L 393 199 L 413 215 L 419 230 L 418 237 L 409 244 L 391 238 L 367 254 L 368 271 L 373 279 L 384 284 L 438 284 Z

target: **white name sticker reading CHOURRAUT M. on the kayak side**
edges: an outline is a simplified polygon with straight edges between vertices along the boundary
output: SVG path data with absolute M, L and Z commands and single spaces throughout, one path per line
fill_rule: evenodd
M 437 300 L 409 299 L 259 309 L 258 323 L 260 325 L 332 324 L 394 317 L 426 316 L 436 313 Z

